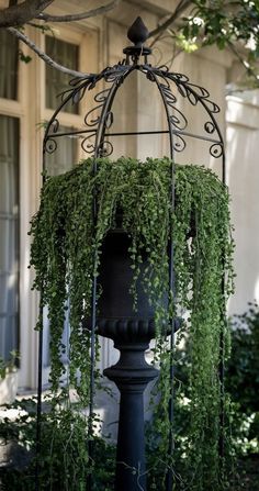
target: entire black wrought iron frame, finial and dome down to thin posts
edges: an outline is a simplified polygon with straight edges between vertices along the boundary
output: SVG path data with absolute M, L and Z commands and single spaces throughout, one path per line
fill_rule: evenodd
M 131 35 L 131 30 L 135 25 L 135 31 L 138 30 L 138 34 L 135 32 L 135 36 Z M 70 88 L 64 91 L 61 97 L 61 102 L 55 110 L 53 116 L 50 118 L 44 135 L 43 141 L 43 166 L 45 166 L 46 154 L 55 153 L 58 140 L 63 136 L 80 136 L 82 138 L 81 147 L 87 153 L 93 157 L 93 172 L 97 172 L 97 158 L 103 156 L 110 156 L 113 153 L 113 145 L 111 138 L 113 137 L 127 137 L 127 136 L 139 136 L 139 135 L 162 135 L 168 134 L 169 145 L 170 145 L 170 158 L 172 160 L 171 166 L 171 208 L 174 208 L 174 156 L 176 153 L 183 152 L 187 142 L 185 137 L 191 137 L 194 140 L 201 140 L 203 142 L 210 143 L 210 155 L 214 158 L 221 158 L 222 160 L 222 180 L 225 183 L 226 180 L 226 166 L 225 166 L 225 152 L 224 152 L 224 141 L 216 122 L 215 115 L 219 113 L 218 105 L 210 99 L 210 93 L 206 89 L 195 83 L 192 83 L 189 78 L 179 72 L 169 71 L 167 66 L 154 67 L 148 63 L 148 55 L 151 51 L 143 45 L 147 38 L 147 34 L 143 34 L 143 38 L 139 41 L 140 32 L 144 31 L 144 24 L 139 21 L 139 18 L 133 26 L 128 30 L 128 38 L 135 43 L 134 46 L 126 47 L 123 52 L 125 57 L 119 64 L 104 68 L 100 74 L 86 75 L 83 78 L 75 78 L 70 81 Z M 143 27 L 144 26 L 144 27 Z M 146 27 L 145 27 L 146 29 Z M 142 60 L 142 58 L 144 58 Z M 147 78 L 150 82 L 155 83 L 158 92 L 160 94 L 164 109 L 167 118 L 167 130 L 160 131 L 143 131 L 143 132 L 112 132 L 112 124 L 114 121 L 114 114 L 112 111 L 113 102 L 120 87 L 123 85 L 125 79 L 130 77 L 133 72 L 138 71 Z M 97 105 L 89 110 L 85 115 L 85 130 L 78 131 L 59 131 L 59 120 L 58 115 L 66 105 L 71 101 L 72 103 L 78 103 L 81 101 L 88 91 L 95 89 L 98 83 L 108 83 L 106 88 L 102 88 L 95 96 L 94 102 Z M 188 120 L 183 112 L 177 107 L 178 97 L 177 93 L 187 99 L 191 105 L 201 107 L 206 115 L 205 123 L 203 126 L 203 134 L 192 133 L 188 130 Z M 97 219 L 97 203 L 93 205 L 93 220 Z M 169 258 L 169 290 L 172 292 L 172 297 L 176 298 L 174 291 L 174 266 L 173 266 L 173 243 L 170 244 L 170 258 Z M 224 288 L 224 281 L 223 281 Z M 90 402 L 90 421 L 93 415 L 93 392 L 94 392 L 94 345 L 95 345 L 95 319 L 97 319 L 97 278 L 94 277 L 92 286 L 92 313 L 91 313 L 91 361 L 92 361 L 92 372 L 91 372 L 91 402 Z M 171 320 L 171 348 L 174 346 L 174 330 L 176 322 Z M 171 351 L 172 351 L 171 349 Z M 41 439 L 41 412 L 42 412 L 42 357 L 43 357 L 43 330 L 40 331 L 40 343 L 38 343 L 38 405 L 37 405 L 37 446 L 40 448 Z M 221 382 L 222 382 L 222 394 L 224 395 L 224 345 L 223 337 L 221 339 L 221 353 L 222 362 L 219 367 Z M 173 364 L 171 362 L 171 387 L 173 388 Z M 173 419 L 173 389 L 172 398 L 169 406 L 170 420 Z M 222 425 L 224 424 L 224 414 L 222 412 Z M 222 431 L 223 434 L 223 431 Z M 219 442 L 219 451 L 223 454 L 223 436 Z M 91 450 L 91 449 L 90 449 Z M 173 450 L 173 435 L 170 435 L 169 451 Z M 38 478 L 37 478 L 38 482 Z M 171 489 L 172 473 L 169 472 L 167 479 L 167 489 Z M 37 484 L 38 486 L 38 484 Z M 36 487 L 36 489 L 38 489 Z M 89 481 L 89 489 L 91 489 L 91 479 Z

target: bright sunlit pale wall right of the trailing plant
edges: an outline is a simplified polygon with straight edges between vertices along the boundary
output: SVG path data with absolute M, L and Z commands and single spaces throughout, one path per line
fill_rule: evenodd
M 229 313 L 259 302 L 259 90 L 227 98 L 227 182 L 234 223 L 236 292 Z

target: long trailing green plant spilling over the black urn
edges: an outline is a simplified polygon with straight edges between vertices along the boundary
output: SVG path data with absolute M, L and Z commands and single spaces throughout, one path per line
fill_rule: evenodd
M 172 164 L 168 158 L 147 158 L 144 163 L 124 157 L 116 161 L 102 158 L 95 164 L 97 172 L 93 172 L 93 160 L 88 159 L 65 175 L 47 177 L 40 210 L 32 221 L 31 265 L 35 268 L 34 288 L 41 292 L 41 306 L 48 308 L 54 404 L 65 373 L 67 406 L 70 408 L 70 387 L 76 389 L 81 408 L 89 404 L 91 335 L 86 328 L 86 320 L 91 313 L 92 281 L 99 272 L 102 242 L 109 230 L 116 226 L 120 210 L 122 227 L 131 237 L 133 303 L 137 309 L 136 282 L 145 250 L 147 266 L 140 279 L 155 309 L 154 362 L 160 365 L 160 378 L 159 403 L 154 409 L 157 438 L 153 445 L 150 489 L 164 489 L 166 470 L 168 466 L 174 469 L 176 464 L 167 457 L 171 429 L 168 402 L 172 392 L 169 371 L 174 354 L 165 336 L 165 325 L 182 312 L 187 319 L 178 333 L 178 343 L 182 334 L 188 333 L 190 344 L 190 417 L 181 456 L 184 489 L 225 489 L 218 457 L 218 365 L 221 355 L 226 358 L 228 353 L 225 302 L 233 290 L 234 276 L 227 189 L 209 169 L 176 166 L 176 202 L 172 205 Z M 174 249 L 177 294 L 173 297 L 170 292 L 166 309 L 162 300 L 169 288 L 170 241 Z M 60 355 L 66 349 L 61 335 L 68 305 L 70 339 L 69 367 L 66 367 Z M 42 328 L 41 316 L 37 328 Z M 97 370 L 95 373 L 98 377 Z M 91 425 L 88 437 L 92 438 Z M 173 473 L 178 476 L 174 470 Z M 176 478 L 176 489 L 181 489 L 181 483 L 183 481 Z

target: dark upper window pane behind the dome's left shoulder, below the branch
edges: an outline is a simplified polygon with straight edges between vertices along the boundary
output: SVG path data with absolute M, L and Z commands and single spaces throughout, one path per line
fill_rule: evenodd
M 60 65 L 78 70 L 79 47 L 76 44 L 46 36 L 46 53 Z M 46 65 L 46 107 L 56 109 L 60 99 L 57 96 L 68 89 L 72 77 Z M 66 104 L 64 111 L 78 114 L 78 104 Z

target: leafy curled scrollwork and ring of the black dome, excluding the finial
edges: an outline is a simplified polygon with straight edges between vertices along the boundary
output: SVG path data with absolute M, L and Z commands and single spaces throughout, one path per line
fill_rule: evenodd
M 57 148 L 57 136 L 59 135 L 58 113 L 65 109 L 69 101 L 78 103 L 87 91 L 94 89 L 98 82 L 102 80 L 108 87 L 102 88 L 101 91 L 94 94 L 94 105 L 83 118 L 85 127 L 81 132 L 78 131 L 76 133 L 81 134 L 81 148 L 87 154 L 98 156 L 111 155 L 113 153 L 111 138 L 119 134 L 108 133 L 108 130 L 112 127 L 114 121 L 112 111 L 113 99 L 119 87 L 134 70 L 143 72 L 149 81 L 155 82 L 158 87 L 168 114 L 168 133 L 173 135 L 171 138 L 173 150 L 183 152 L 187 146 L 185 136 L 188 136 L 211 142 L 210 155 L 214 158 L 223 155 L 223 138 L 214 118 L 214 114 L 219 112 L 219 108 L 210 99 L 210 93 L 206 89 L 191 83 L 189 78 L 183 74 L 169 71 L 166 66 L 153 67 L 147 64 L 126 65 L 125 60 L 113 67 L 106 67 L 99 75 L 91 74 L 86 76 L 86 78 L 72 79 L 70 81 L 71 87 L 63 92 L 61 103 L 48 123 L 44 138 L 45 152 L 53 154 Z M 183 111 L 178 107 L 178 96 L 187 99 L 192 107 L 202 107 L 205 113 L 205 123 L 203 125 L 204 136 L 187 132 L 189 123 Z M 145 134 L 145 132 L 143 133 Z M 66 134 L 69 134 L 69 132 Z M 123 135 L 123 133 L 120 134 Z

